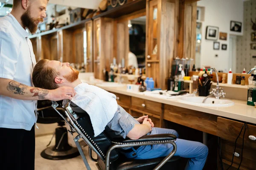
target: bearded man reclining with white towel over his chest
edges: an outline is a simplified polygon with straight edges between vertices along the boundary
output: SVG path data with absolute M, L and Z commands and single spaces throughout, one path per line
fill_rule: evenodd
M 116 96 L 101 88 L 82 83 L 76 71 L 70 64 L 59 61 L 41 59 L 35 65 L 32 80 L 35 87 L 56 89 L 69 86 L 76 90 L 76 96 L 71 100 L 74 104 L 86 111 L 92 122 L 94 136 L 103 132 L 106 126 L 124 139 L 139 139 L 144 135 L 178 133 L 172 129 L 154 127 L 148 116 L 134 119 L 116 102 Z M 35 89 L 36 90 L 36 89 Z M 38 91 L 40 94 L 40 91 Z M 200 142 L 177 139 L 175 156 L 189 158 L 186 170 L 202 170 L 207 159 L 208 148 Z M 127 148 L 126 148 L 127 149 Z M 152 159 L 167 156 L 172 152 L 172 144 L 144 145 L 139 148 L 122 152 L 126 157 L 133 159 Z

